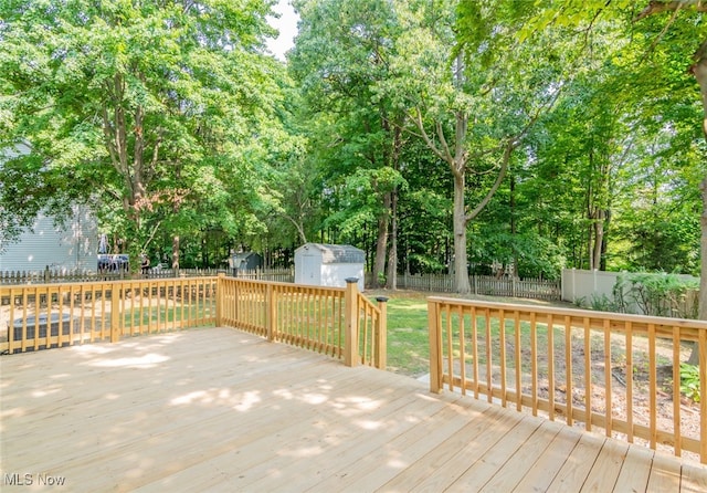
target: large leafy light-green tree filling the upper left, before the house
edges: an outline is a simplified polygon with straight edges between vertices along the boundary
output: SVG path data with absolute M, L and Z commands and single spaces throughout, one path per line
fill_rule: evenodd
M 131 252 L 166 208 L 178 266 L 184 211 L 223 189 L 214 180 L 242 162 L 271 117 L 270 4 L 2 3 L 0 145 L 31 143 L 4 177 L 32 169 L 53 197 L 99 201 Z M 0 202 L 17 209 L 4 190 Z

